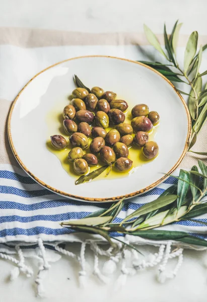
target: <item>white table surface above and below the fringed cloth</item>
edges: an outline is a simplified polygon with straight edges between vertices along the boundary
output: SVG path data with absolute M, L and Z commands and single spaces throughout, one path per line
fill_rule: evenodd
M 0 0 L 0 26 L 80 32 L 142 32 L 143 23 L 146 23 L 154 32 L 162 33 L 164 21 L 172 27 L 179 19 L 184 23 L 182 33 L 197 30 L 206 35 L 206 11 L 206 0 Z M 156 251 L 155 248 L 142 248 L 145 249 Z M 71 245 L 70 250 L 79 251 L 79 246 Z M 81 290 L 77 282 L 79 268 L 73 261 L 62 257 L 52 264 L 44 281 L 47 292 L 44 301 L 203 302 L 207 296 L 205 254 L 186 250 L 177 277 L 165 284 L 156 281 L 156 269 L 152 269 L 128 277 L 125 287 L 116 293 L 112 290 L 113 281 L 107 286 L 100 285 L 93 276 L 88 280 L 87 288 Z M 90 250 L 87 250 L 87 261 L 92 263 Z M 172 261 L 170 266 L 175 263 Z M 0 301 L 37 301 L 34 278 L 21 275 L 11 283 L 7 276 L 13 265 L 3 260 L 0 264 Z

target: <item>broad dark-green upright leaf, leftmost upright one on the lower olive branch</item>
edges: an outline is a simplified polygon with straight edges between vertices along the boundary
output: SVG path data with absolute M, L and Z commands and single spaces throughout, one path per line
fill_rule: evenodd
M 178 194 L 177 209 L 178 210 L 184 202 L 185 196 L 189 188 L 189 181 L 190 181 L 189 173 L 181 169 L 179 174 L 178 184 L 177 184 L 177 194 Z

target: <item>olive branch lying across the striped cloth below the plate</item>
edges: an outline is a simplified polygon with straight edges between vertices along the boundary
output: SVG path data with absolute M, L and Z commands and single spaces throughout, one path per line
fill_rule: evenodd
M 207 224 L 202 220 L 193 219 L 207 213 L 207 200 L 203 200 L 207 195 L 207 167 L 200 160 L 198 165 L 201 173 L 198 172 L 197 166 L 193 166 L 190 171 L 180 170 L 178 177 L 171 175 L 178 179 L 176 185 L 170 186 L 156 200 L 143 205 L 119 223 L 114 220 L 124 207 L 124 198 L 113 203 L 108 209 L 100 209 L 83 219 L 61 222 L 60 225 L 75 232 L 100 235 L 114 248 L 116 246 L 114 240 L 122 241 L 111 237 L 111 232 L 151 240 L 175 240 L 207 247 L 207 241 L 188 233 L 157 230 L 163 225 L 180 220 Z M 135 249 L 132 245 L 129 246 Z

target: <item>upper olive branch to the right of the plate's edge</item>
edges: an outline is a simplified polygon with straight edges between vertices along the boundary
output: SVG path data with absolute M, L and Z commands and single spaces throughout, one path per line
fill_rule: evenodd
M 207 120 L 207 83 L 202 89 L 202 77 L 207 74 L 207 70 L 199 73 L 199 67 L 202 60 L 202 52 L 207 48 L 207 44 L 200 45 L 197 51 L 198 33 L 192 32 L 187 41 L 187 45 L 184 53 L 184 67 L 183 70 L 179 67 L 176 58 L 176 48 L 178 42 L 179 31 L 182 23 L 176 21 L 171 34 L 168 36 L 166 32 L 166 26 L 164 25 L 164 41 L 165 49 L 162 49 L 156 35 L 151 31 L 147 25 L 144 25 L 146 37 L 151 45 L 153 45 L 168 61 L 167 64 L 160 62 L 143 62 L 152 68 L 156 69 L 171 82 L 185 83 L 190 86 L 190 93 L 183 92 L 179 89 L 177 91 L 180 94 L 187 95 L 188 109 L 191 116 L 192 134 L 189 145 L 190 148 L 195 144 L 196 137 L 205 121 Z M 169 67 L 172 67 L 171 69 Z M 191 151 L 192 152 L 192 151 Z M 207 155 L 207 153 L 197 152 L 196 154 Z

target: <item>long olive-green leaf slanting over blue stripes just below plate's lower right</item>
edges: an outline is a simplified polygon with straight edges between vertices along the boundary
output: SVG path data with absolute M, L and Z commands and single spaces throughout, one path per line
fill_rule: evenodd
M 128 215 L 126 218 L 122 220 L 121 224 L 124 223 L 124 221 L 127 221 L 135 216 L 145 215 L 151 211 L 162 208 L 174 202 L 176 199 L 177 199 L 177 195 L 160 196 L 156 200 L 144 204 L 139 209 L 135 210 L 133 213 Z

